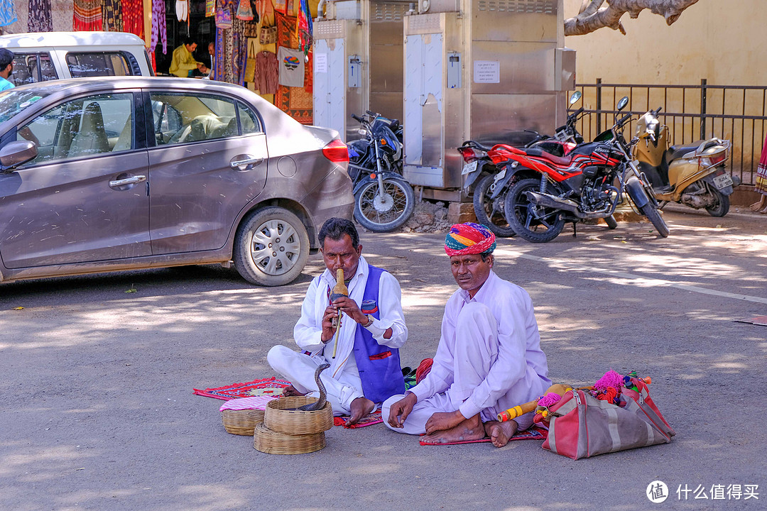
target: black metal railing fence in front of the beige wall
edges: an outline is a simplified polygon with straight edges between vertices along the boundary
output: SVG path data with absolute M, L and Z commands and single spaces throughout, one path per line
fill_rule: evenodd
M 580 104 L 591 115 L 581 120 L 581 133 L 593 139 L 614 122 L 615 104 L 627 96 L 622 113 L 641 115 L 661 106 L 660 120 L 669 127 L 670 142 L 681 144 L 718 136 L 732 142 L 729 169 L 743 184 L 754 184 L 756 166 L 767 134 L 767 86 L 576 84 Z M 634 121 L 626 136 L 634 134 Z

